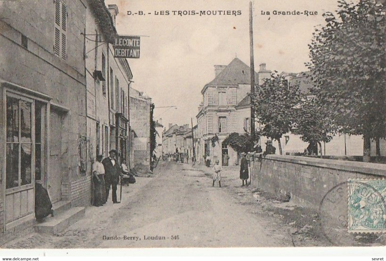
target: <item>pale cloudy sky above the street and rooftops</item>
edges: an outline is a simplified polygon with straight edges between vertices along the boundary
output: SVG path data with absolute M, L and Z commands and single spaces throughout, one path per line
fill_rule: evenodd
M 333 12 L 337 0 L 254 0 L 255 70 L 307 70 L 308 44 L 322 14 Z M 154 119 L 168 124 L 196 124 L 201 90 L 215 77 L 214 65 L 228 65 L 235 57 L 249 59 L 249 1 L 247 0 L 105 0 L 118 6 L 120 35 L 141 35 L 140 59 L 128 59 L 134 89 L 155 104 Z M 169 11 L 169 15 L 155 12 Z M 172 11 L 230 10 L 240 15 L 173 15 Z M 273 11 L 317 12 L 317 15 L 274 15 Z M 143 11 L 145 15 L 127 15 Z M 270 12 L 263 15 L 262 12 Z M 148 13 L 152 13 L 149 15 Z M 176 106 L 177 108 L 159 108 Z

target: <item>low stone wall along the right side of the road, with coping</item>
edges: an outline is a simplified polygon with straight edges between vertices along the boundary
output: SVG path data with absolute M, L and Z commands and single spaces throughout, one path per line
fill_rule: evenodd
M 251 159 L 252 185 L 276 194 L 290 194 L 295 204 L 317 210 L 323 197 L 348 179 L 386 177 L 386 165 L 297 156 L 267 155 Z M 344 187 L 345 195 L 348 195 Z M 347 201 L 340 202 L 347 208 Z

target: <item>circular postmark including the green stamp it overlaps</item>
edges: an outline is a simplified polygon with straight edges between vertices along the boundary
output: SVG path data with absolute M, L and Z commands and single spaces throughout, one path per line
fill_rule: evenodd
M 350 179 L 330 189 L 319 205 L 319 224 L 334 246 L 383 244 L 386 180 Z M 372 234 L 371 234 L 372 233 Z

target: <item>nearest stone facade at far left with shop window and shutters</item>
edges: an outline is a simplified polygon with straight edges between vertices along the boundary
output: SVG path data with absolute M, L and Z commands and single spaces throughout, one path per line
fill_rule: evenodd
M 0 8 L 2 240 L 32 228 L 35 182 L 54 203 L 87 204 L 76 189 L 87 179 L 86 5 L 27 2 Z

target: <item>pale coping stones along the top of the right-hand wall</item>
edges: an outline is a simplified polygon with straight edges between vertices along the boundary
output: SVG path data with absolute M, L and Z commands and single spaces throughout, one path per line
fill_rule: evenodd
M 253 157 L 260 157 L 261 154 L 250 154 Z M 263 159 L 272 161 L 292 162 L 295 164 L 323 167 L 327 169 L 338 169 L 351 172 L 361 172 L 376 176 L 386 177 L 386 164 L 357 162 L 357 161 L 340 161 L 337 159 L 318 159 L 301 156 L 275 155 L 270 154 Z

